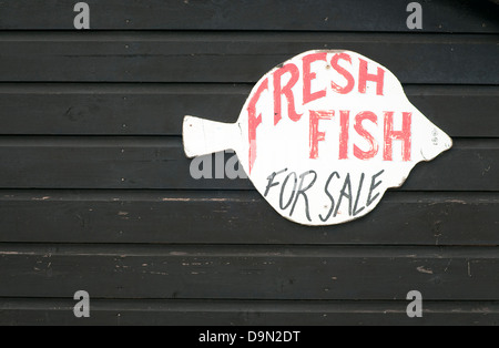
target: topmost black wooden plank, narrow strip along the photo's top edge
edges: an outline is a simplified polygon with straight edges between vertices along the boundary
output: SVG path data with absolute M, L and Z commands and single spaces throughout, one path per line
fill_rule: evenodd
M 409 31 L 407 2 L 398 0 L 86 0 L 90 28 L 105 30 L 323 30 Z M 8 0 L 0 29 L 74 30 L 75 2 Z M 425 32 L 497 32 L 491 1 L 432 0 L 422 3 Z

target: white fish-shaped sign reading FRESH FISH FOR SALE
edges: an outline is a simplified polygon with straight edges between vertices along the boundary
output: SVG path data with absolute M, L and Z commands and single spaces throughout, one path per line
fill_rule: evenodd
M 223 101 L 221 101 L 223 102 Z M 451 139 L 385 66 L 350 51 L 309 51 L 265 74 L 233 124 L 185 116 L 187 157 L 234 150 L 282 216 L 333 225 L 369 213 Z

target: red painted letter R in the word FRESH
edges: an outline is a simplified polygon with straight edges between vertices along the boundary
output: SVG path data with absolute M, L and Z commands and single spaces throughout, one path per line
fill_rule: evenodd
M 285 86 L 281 86 L 281 78 L 287 72 L 291 73 L 291 79 Z M 298 82 L 298 79 L 299 70 L 295 64 L 286 64 L 274 72 L 274 125 L 282 119 L 281 96 L 283 94 L 287 99 L 287 113 L 289 119 L 298 121 L 302 117 L 295 111 L 295 98 L 292 90 L 296 82 Z

